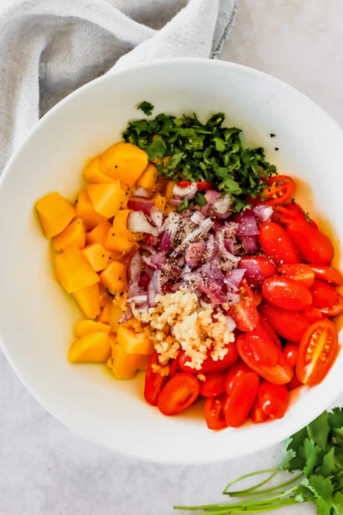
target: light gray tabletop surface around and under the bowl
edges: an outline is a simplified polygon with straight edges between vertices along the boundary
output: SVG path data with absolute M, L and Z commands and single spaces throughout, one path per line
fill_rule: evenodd
M 342 16 L 340 0 L 240 0 L 236 28 L 221 57 L 289 82 L 343 125 Z M 343 396 L 336 404 L 343 404 Z M 2 354 L 0 406 L 1 515 L 171 515 L 175 503 L 220 502 L 230 478 L 275 466 L 280 454 L 277 446 L 240 460 L 190 467 L 113 455 L 47 414 Z M 139 437 L 139 425 L 135 432 Z M 278 511 L 314 512 L 309 505 Z

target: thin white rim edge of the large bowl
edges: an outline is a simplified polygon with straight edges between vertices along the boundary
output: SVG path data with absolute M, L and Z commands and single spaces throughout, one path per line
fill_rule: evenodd
M 283 80 L 274 77 L 273 75 L 269 75 L 269 74 L 267 74 L 265 72 L 257 70 L 256 68 L 252 68 L 252 67 L 245 66 L 245 65 L 242 65 L 242 64 L 238 64 L 238 63 L 233 63 L 233 62 L 230 62 L 230 61 L 223 61 L 223 60 L 219 60 L 219 59 L 218 60 L 213 60 L 213 59 L 207 59 L 207 58 L 190 58 L 190 57 L 159 59 L 159 60 L 139 63 L 139 64 L 136 64 L 136 65 L 132 65 L 130 67 L 120 68 L 119 70 L 111 69 L 110 71 L 108 71 L 103 76 L 98 77 L 96 79 L 93 79 L 93 80 L 83 84 L 80 88 L 74 90 L 73 92 L 71 92 L 67 96 L 65 96 L 62 100 L 60 100 L 46 114 L 44 114 L 42 116 L 42 118 L 39 119 L 39 121 L 24 136 L 24 138 L 21 141 L 21 143 L 14 149 L 10 159 L 8 160 L 6 166 L 5 166 L 4 170 L 3 170 L 3 173 L 0 176 L 0 188 L 2 187 L 2 185 L 4 183 L 4 180 L 6 179 L 7 175 L 9 174 L 9 172 L 10 172 L 10 170 L 12 168 L 12 163 L 15 161 L 16 157 L 18 155 L 20 155 L 22 149 L 27 144 L 29 144 L 30 139 L 32 138 L 32 136 L 37 131 L 39 131 L 41 126 L 44 125 L 45 122 L 48 121 L 48 119 L 50 119 L 51 116 L 53 117 L 55 115 L 55 113 L 64 104 L 67 104 L 68 102 L 73 101 L 74 97 L 77 97 L 78 95 L 82 94 L 82 92 L 87 90 L 87 89 L 97 88 L 97 85 L 102 83 L 102 82 L 105 82 L 107 80 L 112 80 L 113 77 L 119 77 L 119 76 L 124 75 L 124 74 L 126 74 L 128 72 L 134 72 L 135 70 L 140 70 L 141 68 L 158 67 L 161 64 L 162 65 L 173 65 L 173 64 L 178 65 L 178 64 L 182 64 L 182 63 L 187 63 L 189 65 L 192 65 L 192 64 L 196 63 L 198 65 L 199 64 L 200 65 L 203 64 L 205 66 L 218 66 L 218 67 L 224 67 L 224 68 L 231 68 L 232 70 L 240 70 L 240 71 L 242 71 L 242 72 L 244 72 L 244 73 L 246 73 L 247 75 L 250 75 L 250 76 L 251 75 L 253 75 L 253 76 L 255 75 L 255 76 L 258 76 L 258 77 L 262 77 L 264 80 L 267 80 L 270 83 L 274 82 L 277 85 L 277 87 L 279 87 L 279 88 L 281 87 L 283 89 L 286 89 L 287 91 L 291 91 L 291 92 L 293 91 L 298 96 L 300 95 L 303 100 L 305 100 L 306 102 L 309 102 L 309 105 L 311 106 L 311 108 L 314 109 L 314 110 L 317 110 L 317 112 L 319 112 L 321 114 L 321 116 L 326 117 L 328 123 L 331 124 L 335 128 L 335 130 L 338 129 L 338 131 L 340 131 L 342 136 L 343 136 L 343 130 L 339 126 L 339 124 L 326 111 L 324 111 L 320 106 L 318 106 L 318 104 L 316 104 L 316 102 L 314 100 L 312 100 L 310 97 L 308 97 L 307 95 L 305 95 L 301 91 L 297 90 L 296 88 L 294 88 L 290 84 L 287 84 Z M 6 356 L 7 361 L 9 362 L 10 366 L 14 370 L 15 374 L 17 375 L 17 377 L 19 377 L 19 379 L 22 382 L 22 384 L 30 392 L 32 397 L 50 415 L 52 415 L 55 419 L 57 419 L 59 422 L 61 422 L 69 430 L 74 431 L 75 433 L 77 433 L 78 435 L 82 436 L 86 440 L 91 441 L 92 443 L 96 443 L 97 445 L 99 445 L 103 449 L 110 450 L 110 451 L 112 451 L 114 453 L 118 453 L 118 454 L 120 454 L 122 456 L 126 456 L 126 457 L 129 457 L 129 458 L 134 458 L 134 459 L 138 459 L 138 460 L 142 460 L 142 461 L 146 461 L 146 462 L 152 462 L 152 463 L 156 463 L 156 464 L 165 464 L 165 465 L 177 465 L 177 464 L 179 464 L 179 465 L 185 465 L 185 464 L 187 464 L 187 465 L 200 465 L 200 464 L 207 464 L 207 463 L 214 463 L 214 462 L 223 462 L 223 461 L 227 461 L 229 459 L 242 458 L 244 456 L 251 455 L 251 454 L 254 454 L 256 452 L 262 451 L 262 450 L 264 450 L 264 449 L 266 449 L 268 447 L 272 447 L 273 445 L 275 445 L 277 443 L 280 443 L 284 438 L 287 438 L 287 436 L 289 436 L 287 431 L 282 431 L 281 432 L 281 436 L 280 436 L 280 432 L 275 431 L 274 438 L 269 439 L 268 442 L 266 442 L 266 443 L 264 441 L 255 442 L 254 444 L 249 445 L 249 449 L 248 450 L 243 450 L 243 452 L 242 452 L 242 450 L 240 450 L 240 451 L 237 450 L 236 452 L 232 452 L 229 458 L 224 455 L 223 457 L 215 457 L 214 459 L 203 458 L 201 460 L 187 460 L 186 463 L 183 462 L 183 461 L 175 461 L 175 460 L 172 459 L 172 457 L 171 457 L 171 459 L 165 459 L 165 458 L 159 459 L 158 456 L 152 458 L 152 457 L 144 455 L 143 453 L 136 454 L 135 452 L 131 453 L 130 451 L 123 451 L 122 449 L 120 449 L 119 445 L 117 447 L 110 447 L 110 446 L 107 446 L 106 444 L 104 444 L 103 442 L 98 441 L 97 438 L 91 437 L 88 434 L 84 434 L 82 431 L 80 431 L 80 430 L 76 429 L 75 427 L 73 427 L 73 425 L 68 425 L 68 423 L 64 422 L 59 416 L 57 416 L 57 415 L 55 415 L 53 413 L 53 407 L 50 408 L 50 407 L 47 407 L 45 405 L 45 401 L 44 400 L 42 401 L 42 396 L 41 396 L 40 391 L 37 391 L 36 388 L 33 385 L 29 384 L 29 381 L 25 377 L 23 377 L 21 375 L 21 373 L 19 372 L 20 366 L 17 365 L 15 363 L 15 359 L 12 358 L 12 354 L 11 354 L 11 351 L 10 351 L 10 345 L 8 345 L 5 342 L 5 339 L 2 336 L 1 327 L 0 327 L 0 347 L 2 348 L 2 350 L 3 350 L 3 352 L 4 352 L 5 356 Z M 339 393 L 340 393 L 341 390 L 343 390 L 343 384 L 342 384 L 341 389 L 338 392 L 337 392 L 337 390 L 336 391 L 332 390 L 331 396 L 327 398 L 327 406 L 330 406 L 330 404 L 332 404 L 335 401 L 335 399 L 339 396 Z M 314 409 L 313 409 L 313 418 L 309 419 L 306 423 L 309 423 L 309 422 L 311 422 L 311 420 L 314 420 L 318 415 L 320 415 L 320 413 L 321 413 L 321 408 L 314 407 Z M 303 427 L 303 425 L 304 425 L 303 421 L 301 423 L 295 423 L 294 424 L 294 430 L 292 430 L 292 431 L 294 431 L 294 433 L 296 431 L 299 431 Z

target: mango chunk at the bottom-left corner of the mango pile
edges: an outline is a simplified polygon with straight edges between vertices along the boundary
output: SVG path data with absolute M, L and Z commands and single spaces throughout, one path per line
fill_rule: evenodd
M 111 353 L 112 347 L 107 333 L 88 333 L 71 344 L 68 359 L 70 363 L 105 363 Z

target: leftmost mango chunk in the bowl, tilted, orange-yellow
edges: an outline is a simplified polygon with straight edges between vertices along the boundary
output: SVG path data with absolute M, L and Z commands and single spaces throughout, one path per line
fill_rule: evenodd
M 75 215 L 74 206 L 57 192 L 41 198 L 36 208 L 47 238 L 62 232 Z

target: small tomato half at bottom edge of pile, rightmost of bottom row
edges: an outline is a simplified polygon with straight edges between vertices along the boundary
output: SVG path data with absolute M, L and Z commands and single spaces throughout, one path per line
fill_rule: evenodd
M 262 381 L 257 391 L 259 405 L 269 417 L 282 418 L 288 406 L 288 390 L 285 385 Z

